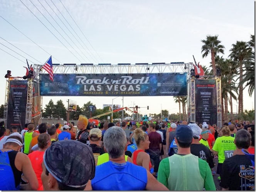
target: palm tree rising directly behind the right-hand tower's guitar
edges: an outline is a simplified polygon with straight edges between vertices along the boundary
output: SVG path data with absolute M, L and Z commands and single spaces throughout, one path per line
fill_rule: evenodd
M 217 53 L 224 54 L 224 45 L 221 45 L 221 41 L 218 40 L 218 35 L 215 36 L 206 36 L 206 40 L 201 40 L 204 45 L 201 48 L 201 53 L 203 53 L 202 57 L 207 57 L 209 52 L 211 52 L 211 60 L 212 60 L 212 71 L 213 74 L 216 75 L 216 65 L 215 65 L 215 57 Z

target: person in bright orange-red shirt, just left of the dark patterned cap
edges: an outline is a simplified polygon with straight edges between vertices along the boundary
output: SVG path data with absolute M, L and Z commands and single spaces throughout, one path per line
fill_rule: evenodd
M 48 135 L 47 133 L 41 133 L 38 136 L 37 140 L 38 140 L 39 150 L 30 153 L 28 157 L 31 161 L 35 175 L 37 176 L 37 180 L 38 180 L 37 190 L 39 190 L 40 187 L 42 186 L 41 174 L 43 171 L 42 170 L 43 156 L 44 156 L 45 150 L 51 146 L 51 138 L 50 138 L 50 135 Z

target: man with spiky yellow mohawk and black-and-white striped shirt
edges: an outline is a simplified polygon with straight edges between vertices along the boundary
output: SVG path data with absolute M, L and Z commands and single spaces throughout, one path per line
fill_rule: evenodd
M 76 137 L 76 140 L 89 145 L 89 138 L 88 138 L 89 132 L 86 129 L 87 125 L 88 125 L 87 117 L 85 117 L 84 115 L 79 115 L 79 119 L 77 121 L 77 129 L 79 129 L 80 131 Z

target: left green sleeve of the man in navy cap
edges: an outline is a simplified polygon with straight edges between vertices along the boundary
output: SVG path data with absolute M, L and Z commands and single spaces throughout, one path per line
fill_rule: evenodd
M 169 171 L 169 173 L 167 173 Z M 167 187 L 168 177 L 170 174 L 170 165 L 168 158 L 162 160 L 158 167 L 157 180 Z

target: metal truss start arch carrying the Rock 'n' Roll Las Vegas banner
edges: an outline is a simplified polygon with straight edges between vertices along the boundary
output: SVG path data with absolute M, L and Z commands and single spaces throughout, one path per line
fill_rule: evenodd
M 19 124 L 20 129 L 25 123 L 40 124 L 43 96 L 187 96 L 188 119 L 196 120 L 193 116 L 194 99 L 191 100 L 195 92 L 192 90 L 193 78 L 190 77 L 193 63 L 53 64 L 54 82 L 49 80 L 45 70 L 40 70 L 41 67 L 34 65 L 35 76 L 27 80 L 7 78 L 4 120 L 9 129 L 10 122 L 15 122 L 15 119 L 17 123 L 14 124 Z M 26 99 L 25 105 L 20 102 L 22 98 Z M 21 123 L 23 118 L 25 122 Z

